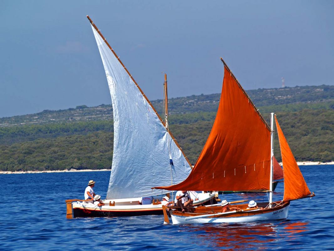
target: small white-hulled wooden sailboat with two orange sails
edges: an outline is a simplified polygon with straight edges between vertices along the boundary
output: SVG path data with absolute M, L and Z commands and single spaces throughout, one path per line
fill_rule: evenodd
M 224 79 L 219 107 L 209 137 L 191 173 L 182 182 L 155 187 L 165 190 L 266 191 L 269 201 L 258 208 L 238 204 L 222 212 L 222 206 L 199 206 L 191 213 L 170 207 L 173 224 L 236 223 L 286 219 L 291 200 L 313 197 L 296 163 L 276 115 L 271 126 L 230 71 L 224 60 Z M 281 146 L 284 197 L 273 201 L 274 118 Z M 164 222 L 169 223 L 166 207 Z

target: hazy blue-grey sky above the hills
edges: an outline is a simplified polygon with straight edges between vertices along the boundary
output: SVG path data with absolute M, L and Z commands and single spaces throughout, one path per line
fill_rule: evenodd
M 0 117 L 111 104 L 86 15 L 150 100 L 333 85 L 334 1 L 0 1 Z

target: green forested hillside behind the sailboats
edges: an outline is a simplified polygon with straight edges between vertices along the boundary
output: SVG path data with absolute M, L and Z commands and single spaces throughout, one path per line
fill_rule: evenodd
M 334 160 L 334 86 L 250 90 L 265 119 L 274 111 L 297 161 Z M 192 164 L 210 133 L 220 94 L 169 100 L 170 130 Z M 162 110 L 162 100 L 152 101 Z M 281 159 L 278 141 L 275 156 Z M 81 105 L 0 119 L 0 170 L 111 168 L 110 105 Z

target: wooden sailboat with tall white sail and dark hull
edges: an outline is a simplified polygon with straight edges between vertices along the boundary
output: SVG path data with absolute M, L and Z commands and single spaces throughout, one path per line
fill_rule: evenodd
M 114 150 L 104 206 L 66 200 L 67 218 L 163 214 L 169 191 L 152 190 L 159 184 L 183 181 L 191 164 L 168 127 L 167 89 L 163 120 L 89 16 L 106 72 L 114 115 Z M 165 76 L 165 87 L 167 78 Z M 199 193 L 197 204 L 214 194 Z

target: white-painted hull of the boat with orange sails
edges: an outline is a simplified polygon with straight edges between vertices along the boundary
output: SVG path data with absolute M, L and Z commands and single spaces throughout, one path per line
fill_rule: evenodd
M 171 214 L 173 224 L 203 224 L 203 223 L 241 223 L 241 222 L 256 222 L 256 221 L 270 221 L 270 220 L 282 220 L 288 217 L 289 206 L 287 205 L 277 211 L 271 211 L 268 213 L 239 216 L 239 217 L 203 217 L 191 219 L 187 216 L 179 216 Z M 249 211 L 251 212 L 251 211 Z

